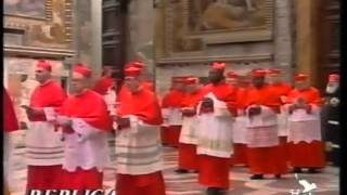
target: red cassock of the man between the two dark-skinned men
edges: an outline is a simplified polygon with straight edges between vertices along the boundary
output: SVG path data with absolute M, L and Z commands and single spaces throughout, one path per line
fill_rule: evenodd
M 246 108 L 246 95 L 247 95 L 247 88 L 237 88 L 236 90 L 236 107 L 237 107 L 237 117 L 242 117 L 245 113 Z M 239 122 L 239 121 L 235 121 Z M 242 122 L 242 121 L 241 121 Z M 244 128 L 245 126 L 237 126 L 234 128 Z M 234 129 L 233 131 L 236 131 L 236 133 L 242 133 L 243 135 L 237 135 L 237 136 L 245 136 L 245 131 L 240 130 L 240 129 Z M 235 135 L 233 135 L 234 139 Z M 244 139 L 242 139 L 244 140 Z M 245 165 L 247 166 L 247 144 L 244 143 L 244 141 L 239 141 L 234 140 L 233 144 L 234 148 L 234 154 L 231 156 L 231 166 L 232 165 Z

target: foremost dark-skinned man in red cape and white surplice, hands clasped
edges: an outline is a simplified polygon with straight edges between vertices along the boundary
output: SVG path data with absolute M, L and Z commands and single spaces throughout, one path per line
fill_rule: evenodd
M 232 155 L 232 117 L 236 115 L 236 92 L 226 83 L 224 63 L 213 63 L 210 83 L 203 88 L 197 106 L 198 182 L 207 193 L 219 194 L 230 187 L 229 169 Z

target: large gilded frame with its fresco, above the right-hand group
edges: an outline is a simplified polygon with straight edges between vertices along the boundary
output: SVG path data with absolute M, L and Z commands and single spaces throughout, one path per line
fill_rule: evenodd
M 270 41 L 273 6 L 273 0 L 164 1 L 157 57 L 206 56 L 209 44 Z

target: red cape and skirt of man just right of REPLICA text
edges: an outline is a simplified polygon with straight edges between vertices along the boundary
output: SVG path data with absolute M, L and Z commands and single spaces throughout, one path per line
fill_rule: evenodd
M 162 112 L 160 106 L 158 104 L 158 101 L 156 99 L 156 95 L 150 91 L 142 89 L 136 94 L 130 94 L 125 99 L 121 99 L 121 104 L 118 109 L 118 116 L 136 116 L 141 122 L 152 126 L 160 126 L 163 122 L 162 118 Z M 151 129 L 150 131 L 155 131 L 155 129 Z M 120 131 L 128 131 L 128 130 L 120 130 Z M 151 133 L 151 132 L 149 132 Z M 138 135 L 133 135 L 133 141 L 137 143 L 129 143 L 133 144 L 131 145 L 131 150 L 134 147 L 139 147 L 139 151 L 132 151 L 133 154 L 128 154 L 126 161 L 129 162 L 129 165 L 123 165 L 124 167 L 118 167 L 118 173 L 116 176 L 116 190 L 117 194 L 119 195 L 165 195 L 165 183 L 164 178 L 162 174 L 162 168 L 157 167 L 156 164 L 152 164 L 147 166 L 147 169 L 151 170 L 143 170 L 141 167 L 141 164 L 138 165 L 138 167 L 133 164 L 137 164 L 137 161 L 131 161 L 132 156 L 139 155 L 141 153 L 141 145 L 140 144 L 146 144 L 146 141 L 150 143 L 151 146 L 153 146 L 152 142 L 153 139 L 157 140 L 158 138 L 137 138 Z M 121 139 L 121 138 L 120 138 Z M 137 140 L 141 139 L 141 140 Z M 145 140 L 151 139 L 151 140 Z M 141 143 L 143 142 L 143 143 Z M 125 142 L 128 143 L 128 142 Z M 157 142 L 159 145 L 159 142 Z M 130 145 L 129 145 L 130 146 Z M 145 148 L 150 148 L 145 147 Z M 121 148 L 127 147 L 128 145 L 120 145 Z M 116 150 L 117 150 L 117 141 L 116 141 Z M 145 153 L 147 154 L 147 153 Z M 152 153 L 151 153 L 152 154 Z M 123 154 L 118 154 L 123 155 Z M 140 154 L 141 155 L 141 154 Z M 155 154 L 153 154 L 155 155 Z M 152 159 L 154 157 L 152 156 L 144 156 L 142 160 L 146 160 L 146 158 Z M 130 171 L 131 168 L 136 169 L 137 171 L 150 171 L 149 173 L 137 173 L 137 171 L 130 173 L 123 173 L 124 171 Z M 151 167 L 151 168 L 149 168 Z M 121 173 L 119 173 L 121 172 Z

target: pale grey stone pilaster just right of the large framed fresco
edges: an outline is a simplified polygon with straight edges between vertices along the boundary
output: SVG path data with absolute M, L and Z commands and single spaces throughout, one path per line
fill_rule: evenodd
M 285 80 L 293 75 L 292 0 L 274 1 L 274 67 L 284 70 Z

